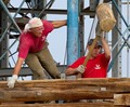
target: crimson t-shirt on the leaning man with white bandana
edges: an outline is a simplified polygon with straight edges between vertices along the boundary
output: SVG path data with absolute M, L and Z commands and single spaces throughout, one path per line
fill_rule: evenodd
M 42 21 L 43 31 L 41 37 L 35 37 L 29 31 L 23 32 L 20 37 L 18 57 L 26 58 L 28 53 L 39 52 L 42 50 L 47 36 L 54 27 L 48 21 Z

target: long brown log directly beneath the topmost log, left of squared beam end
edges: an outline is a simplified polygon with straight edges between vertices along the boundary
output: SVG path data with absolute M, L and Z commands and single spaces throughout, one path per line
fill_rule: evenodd
M 8 92 L 8 93 L 6 93 Z M 15 88 L 0 89 L 0 102 L 78 101 L 113 98 L 113 92 L 87 91 L 83 88 Z

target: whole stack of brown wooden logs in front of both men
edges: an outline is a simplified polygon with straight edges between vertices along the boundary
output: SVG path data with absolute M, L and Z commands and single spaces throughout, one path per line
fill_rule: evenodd
M 129 78 L 28 80 L 17 81 L 14 89 L 9 89 L 6 81 L 0 82 L 0 107 L 127 106 L 130 106 Z

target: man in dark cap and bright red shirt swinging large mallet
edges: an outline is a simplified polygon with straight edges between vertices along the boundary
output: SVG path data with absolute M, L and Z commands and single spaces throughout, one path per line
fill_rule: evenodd
M 110 50 L 103 37 L 101 37 L 101 41 L 96 42 L 86 67 L 82 65 L 86 56 L 82 56 L 68 66 L 66 75 L 81 73 L 82 78 L 106 78 L 107 67 L 110 59 Z M 88 50 L 90 50 L 92 42 L 93 39 L 90 39 L 87 46 Z M 104 49 L 103 53 L 101 53 L 102 48 Z

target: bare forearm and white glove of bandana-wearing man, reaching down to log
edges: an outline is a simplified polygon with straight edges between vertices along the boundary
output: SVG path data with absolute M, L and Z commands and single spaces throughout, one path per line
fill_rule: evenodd
M 9 88 L 14 88 L 14 84 L 17 80 L 17 77 L 18 77 L 20 70 L 22 68 L 23 62 L 24 62 L 24 58 L 18 57 L 18 59 L 16 62 L 16 65 L 14 67 L 13 75 L 12 75 L 11 79 L 8 81 L 8 86 Z

